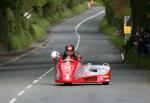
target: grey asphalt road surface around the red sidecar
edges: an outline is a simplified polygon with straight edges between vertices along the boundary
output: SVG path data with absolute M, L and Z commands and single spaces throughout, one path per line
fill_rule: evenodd
M 0 103 L 150 103 L 150 71 L 121 63 L 117 49 L 98 32 L 103 10 L 96 7 L 67 19 L 52 29 L 40 50 L 0 66 Z M 110 85 L 55 85 L 49 55 L 64 50 L 68 42 L 85 62 L 111 64 Z

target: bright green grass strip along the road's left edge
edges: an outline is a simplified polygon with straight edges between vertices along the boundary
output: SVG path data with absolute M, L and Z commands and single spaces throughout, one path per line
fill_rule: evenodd
M 33 15 L 34 17 L 29 30 L 21 28 L 18 33 L 15 33 L 17 35 L 9 35 L 8 40 L 10 42 L 11 52 L 18 52 L 28 48 L 33 42 L 45 34 L 45 31 L 49 26 L 52 26 L 66 18 L 72 17 L 77 13 L 81 13 L 86 9 L 87 2 L 84 2 L 72 9 L 66 9 L 62 12 L 53 14 L 48 18 L 39 18 L 38 16 Z

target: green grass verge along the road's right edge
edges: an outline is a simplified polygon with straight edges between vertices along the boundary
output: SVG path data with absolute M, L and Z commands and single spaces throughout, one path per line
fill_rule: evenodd
M 108 25 L 106 18 L 100 21 L 99 31 L 109 36 L 110 40 L 115 44 L 121 52 L 122 46 L 125 45 L 124 39 L 116 35 L 115 28 Z M 136 48 L 132 48 L 126 54 L 126 63 L 132 64 L 140 69 L 150 69 L 150 55 L 139 56 Z

